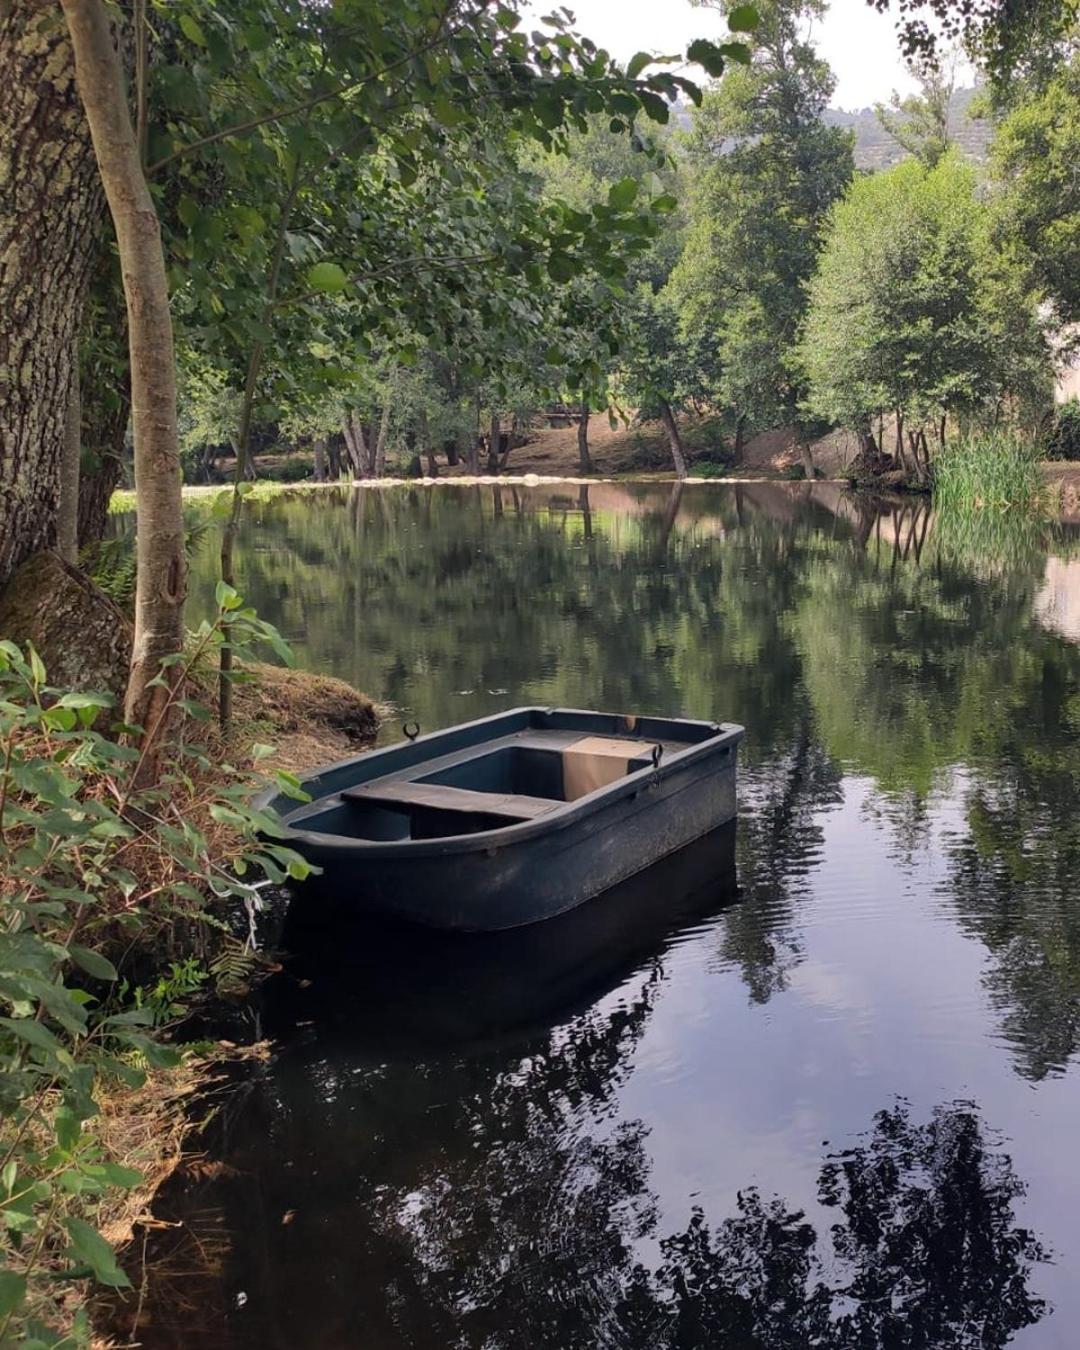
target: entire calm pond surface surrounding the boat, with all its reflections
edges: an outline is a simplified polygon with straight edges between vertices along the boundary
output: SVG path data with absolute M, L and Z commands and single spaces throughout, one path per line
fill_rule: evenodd
M 254 508 L 244 594 L 386 734 L 740 721 L 740 819 L 529 930 L 294 923 L 143 1343 L 1080 1345 L 1077 545 L 826 486 Z

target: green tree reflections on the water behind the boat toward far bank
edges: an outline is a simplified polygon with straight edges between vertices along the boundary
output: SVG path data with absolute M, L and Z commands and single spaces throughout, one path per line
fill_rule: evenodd
M 744 722 L 748 903 L 722 945 L 755 999 L 799 960 L 798 891 L 840 765 L 873 782 L 907 856 L 964 768 L 950 894 L 991 950 L 1023 1072 L 1065 1062 L 1080 1035 L 1080 764 L 1062 760 L 1080 648 L 1033 621 L 1033 601 L 1048 548 L 1073 541 L 1026 517 L 932 520 L 923 501 L 809 485 L 501 501 L 441 489 L 269 502 L 247 536 L 246 589 L 320 664 L 424 725 L 509 699 Z M 212 591 L 209 572 L 196 589 Z

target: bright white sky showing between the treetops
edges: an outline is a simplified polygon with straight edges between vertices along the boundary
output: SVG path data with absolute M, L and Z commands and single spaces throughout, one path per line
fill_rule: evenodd
M 709 9 L 695 9 L 690 0 L 559 0 L 576 15 L 578 31 L 629 59 L 636 51 L 674 55 L 686 51 L 694 38 L 722 38 L 724 19 Z M 531 0 L 525 14 L 535 20 L 555 3 Z M 895 36 L 895 18 L 878 14 L 865 0 L 832 0 L 824 20 L 814 26 L 813 40 L 833 68 L 837 90 L 834 108 L 888 103 L 894 89 L 910 93 L 914 82 L 903 68 Z

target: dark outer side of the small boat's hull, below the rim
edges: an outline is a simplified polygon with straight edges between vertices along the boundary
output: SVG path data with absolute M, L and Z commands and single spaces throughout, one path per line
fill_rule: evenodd
M 286 829 L 286 842 L 321 869 L 298 896 L 464 932 L 554 918 L 734 818 L 742 732 L 711 730 L 693 753 L 524 825 L 387 842 Z

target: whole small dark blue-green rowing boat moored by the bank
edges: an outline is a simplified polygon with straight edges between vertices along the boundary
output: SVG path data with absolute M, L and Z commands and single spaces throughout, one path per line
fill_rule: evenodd
M 493 932 L 552 918 L 734 818 L 742 728 L 518 707 L 267 794 L 304 883 L 359 910 Z

